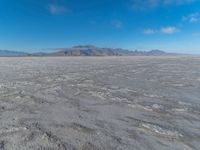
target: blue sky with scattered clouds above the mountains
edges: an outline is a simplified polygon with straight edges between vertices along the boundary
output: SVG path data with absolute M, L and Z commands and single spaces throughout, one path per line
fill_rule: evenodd
M 200 0 L 0 1 L 0 49 L 80 44 L 200 54 Z

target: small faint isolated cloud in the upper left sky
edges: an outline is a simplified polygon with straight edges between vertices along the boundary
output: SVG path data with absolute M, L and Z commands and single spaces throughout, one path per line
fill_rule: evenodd
M 59 15 L 59 14 L 70 12 L 70 9 L 68 9 L 67 7 L 63 5 L 55 5 L 55 4 L 49 4 L 48 10 L 53 15 Z

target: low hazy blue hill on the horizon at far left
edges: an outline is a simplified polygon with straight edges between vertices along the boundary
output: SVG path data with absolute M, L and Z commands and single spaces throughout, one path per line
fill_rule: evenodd
M 0 50 L 0 57 L 22 57 L 22 56 L 28 56 L 28 53 L 17 52 L 17 51 L 8 51 L 8 50 Z

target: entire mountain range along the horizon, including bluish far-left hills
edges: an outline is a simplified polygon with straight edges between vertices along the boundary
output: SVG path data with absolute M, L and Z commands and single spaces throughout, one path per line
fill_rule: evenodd
M 26 53 L 17 51 L 0 50 L 1 57 L 25 56 L 161 56 L 172 55 L 161 50 L 131 51 L 121 48 L 99 48 L 93 45 L 79 45 L 72 48 L 57 48 L 53 52 Z

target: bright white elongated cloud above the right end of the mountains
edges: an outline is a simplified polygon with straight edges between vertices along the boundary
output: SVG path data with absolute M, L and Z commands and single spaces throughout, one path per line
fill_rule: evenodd
M 177 33 L 177 32 L 180 32 L 180 29 L 178 29 L 177 27 L 174 27 L 174 26 L 162 27 L 160 29 L 148 28 L 148 29 L 143 30 L 143 34 L 146 34 L 146 35 L 151 35 L 151 34 L 156 34 L 156 33 L 174 34 L 174 33 Z

